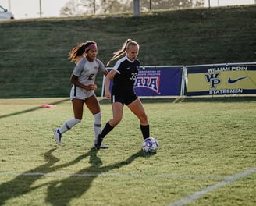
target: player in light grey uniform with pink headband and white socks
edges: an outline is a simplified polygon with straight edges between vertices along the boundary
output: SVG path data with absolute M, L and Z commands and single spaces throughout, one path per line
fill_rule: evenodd
M 101 133 L 101 108 L 94 93 L 94 90 L 97 89 L 97 85 L 94 82 L 98 71 L 107 76 L 108 70 L 96 58 L 97 53 L 98 48 L 94 41 L 78 44 L 69 52 L 70 61 L 76 63 L 70 78 L 70 82 L 73 83 L 70 98 L 74 117 L 68 119 L 66 123 L 54 131 L 55 141 L 59 145 L 62 141 L 62 134 L 81 122 L 84 104 L 87 105 L 87 108 L 94 115 L 94 144 L 96 144 L 98 134 Z M 101 144 L 99 147 L 108 148 L 105 144 Z

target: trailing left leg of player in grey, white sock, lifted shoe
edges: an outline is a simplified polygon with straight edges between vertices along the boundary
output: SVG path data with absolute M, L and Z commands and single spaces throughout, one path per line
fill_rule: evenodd
M 65 133 L 67 130 L 70 130 L 73 126 L 80 123 L 83 118 L 84 100 L 74 98 L 72 105 L 74 117 L 68 119 L 59 129 L 55 130 L 55 141 L 57 144 L 61 144 L 62 133 Z

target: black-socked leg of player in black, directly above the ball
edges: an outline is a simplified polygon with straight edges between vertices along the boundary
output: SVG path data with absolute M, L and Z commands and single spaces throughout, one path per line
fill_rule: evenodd
M 143 138 L 144 139 L 148 138 L 150 135 L 149 125 L 148 125 L 148 116 L 146 115 L 146 112 L 144 110 L 144 107 L 140 99 L 137 98 L 127 106 L 128 108 L 130 108 L 130 111 L 132 111 L 133 114 L 136 115 L 138 119 L 140 119 L 140 130 L 143 135 Z

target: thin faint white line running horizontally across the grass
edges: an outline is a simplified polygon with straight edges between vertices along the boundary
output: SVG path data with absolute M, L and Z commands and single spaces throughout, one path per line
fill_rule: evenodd
M 154 178 L 182 178 L 182 179 L 223 179 L 223 176 L 212 175 L 140 175 L 119 173 L 62 173 L 62 172 L 0 172 L 0 176 L 115 176 L 115 177 L 154 177 Z

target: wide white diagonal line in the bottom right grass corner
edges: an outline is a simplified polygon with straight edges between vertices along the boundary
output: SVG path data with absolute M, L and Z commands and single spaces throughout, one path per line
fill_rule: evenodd
M 187 197 L 182 198 L 180 201 L 176 201 L 172 204 L 169 204 L 169 206 L 183 206 L 185 204 L 189 204 L 192 201 L 195 201 L 195 200 L 199 199 L 200 197 L 204 196 L 204 194 L 207 194 L 208 192 L 211 192 L 212 190 L 216 190 L 219 187 L 226 186 L 227 184 L 233 183 L 237 179 L 240 179 L 244 176 L 251 175 L 251 173 L 254 173 L 254 172 L 256 172 L 256 168 L 248 169 L 248 170 L 246 170 L 244 172 L 241 172 L 241 173 L 238 173 L 234 176 L 228 176 L 223 181 L 221 181 L 219 183 L 216 183 L 212 186 L 204 187 L 203 190 L 199 190 L 199 191 L 195 192 L 194 194 L 190 194 Z

